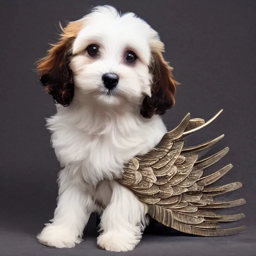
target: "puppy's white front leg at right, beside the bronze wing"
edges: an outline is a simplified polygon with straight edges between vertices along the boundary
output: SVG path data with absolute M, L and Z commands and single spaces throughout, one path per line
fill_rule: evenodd
M 148 224 L 146 206 L 126 187 L 111 181 L 112 196 L 102 213 L 97 245 L 110 251 L 129 251 L 139 243 Z

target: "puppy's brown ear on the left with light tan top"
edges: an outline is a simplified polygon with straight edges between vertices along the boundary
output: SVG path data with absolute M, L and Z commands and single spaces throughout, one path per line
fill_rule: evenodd
M 74 95 L 72 70 L 69 67 L 72 56 L 71 47 L 80 22 L 69 23 L 61 34 L 57 44 L 52 45 L 48 54 L 39 59 L 37 70 L 39 80 L 45 86 L 45 90 L 52 95 L 54 102 L 68 106 Z

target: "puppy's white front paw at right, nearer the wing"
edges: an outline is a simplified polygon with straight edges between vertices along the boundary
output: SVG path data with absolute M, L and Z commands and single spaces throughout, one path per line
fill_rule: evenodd
M 140 238 L 128 232 L 108 231 L 97 237 L 97 245 L 110 251 L 130 251 L 139 243 Z

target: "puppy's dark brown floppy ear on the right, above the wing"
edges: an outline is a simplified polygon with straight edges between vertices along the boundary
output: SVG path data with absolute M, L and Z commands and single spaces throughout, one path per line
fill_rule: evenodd
M 163 59 L 160 51 L 151 53 L 149 72 L 152 74 L 151 97 L 145 96 L 140 113 L 145 118 L 154 114 L 164 114 L 174 103 L 176 82 L 172 77 L 172 68 Z

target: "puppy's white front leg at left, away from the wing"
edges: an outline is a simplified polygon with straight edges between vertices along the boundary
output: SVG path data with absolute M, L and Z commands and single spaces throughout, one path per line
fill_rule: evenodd
M 51 247 L 73 247 L 82 239 L 82 232 L 93 210 L 94 202 L 75 177 L 63 169 L 59 175 L 59 197 L 54 217 L 37 235 L 40 243 Z

